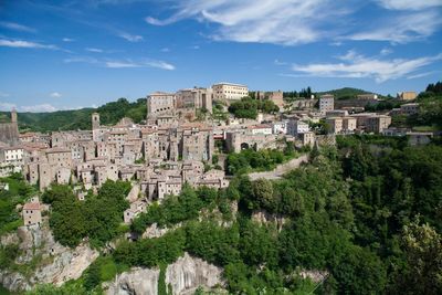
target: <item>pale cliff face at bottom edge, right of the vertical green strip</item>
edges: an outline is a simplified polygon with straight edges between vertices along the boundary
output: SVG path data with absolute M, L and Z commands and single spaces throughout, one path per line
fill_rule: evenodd
M 189 254 L 167 266 L 166 285 L 172 286 L 173 295 L 193 294 L 199 286 L 214 287 L 221 284 L 222 270 Z

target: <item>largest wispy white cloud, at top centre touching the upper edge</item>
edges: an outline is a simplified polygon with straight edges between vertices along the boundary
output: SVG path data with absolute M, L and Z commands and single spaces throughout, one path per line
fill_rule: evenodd
M 340 2 L 340 1 L 339 1 Z M 177 3 L 178 11 L 159 20 L 147 17 L 154 25 L 167 25 L 187 18 L 219 24 L 212 39 L 236 42 L 261 42 L 293 45 L 318 40 L 322 35 L 318 23 L 348 10 L 340 9 L 338 1 L 327 0 L 183 0 Z

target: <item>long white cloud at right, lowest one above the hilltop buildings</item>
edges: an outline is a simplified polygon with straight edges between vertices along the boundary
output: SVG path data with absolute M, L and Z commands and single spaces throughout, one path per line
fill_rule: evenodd
M 442 53 L 435 56 L 424 56 L 412 60 L 393 59 L 379 60 L 366 57 L 349 51 L 338 56 L 340 63 L 314 63 L 307 65 L 294 64 L 292 70 L 297 74 L 319 77 L 366 77 L 375 78 L 377 83 L 417 74 L 425 65 L 442 60 Z

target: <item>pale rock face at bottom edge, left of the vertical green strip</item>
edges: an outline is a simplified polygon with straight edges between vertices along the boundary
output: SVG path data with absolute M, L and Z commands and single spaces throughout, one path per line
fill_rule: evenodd
M 108 295 L 157 295 L 159 270 L 135 267 L 118 275 L 108 286 Z

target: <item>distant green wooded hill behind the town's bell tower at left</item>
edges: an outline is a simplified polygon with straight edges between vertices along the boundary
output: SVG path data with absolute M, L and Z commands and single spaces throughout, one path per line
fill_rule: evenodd
M 91 129 L 92 113 L 99 113 L 103 125 L 116 124 L 123 117 L 129 117 L 135 123 L 146 118 L 146 98 L 129 103 L 126 98 L 107 103 L 97 108 L 81 108 L 72 110 L 57 110 L 52 113 L 18 113 L 19 128 L 21 131 L 55 131 Z M 0 120 L 9 119 L 8 112 L 0 112 Z

